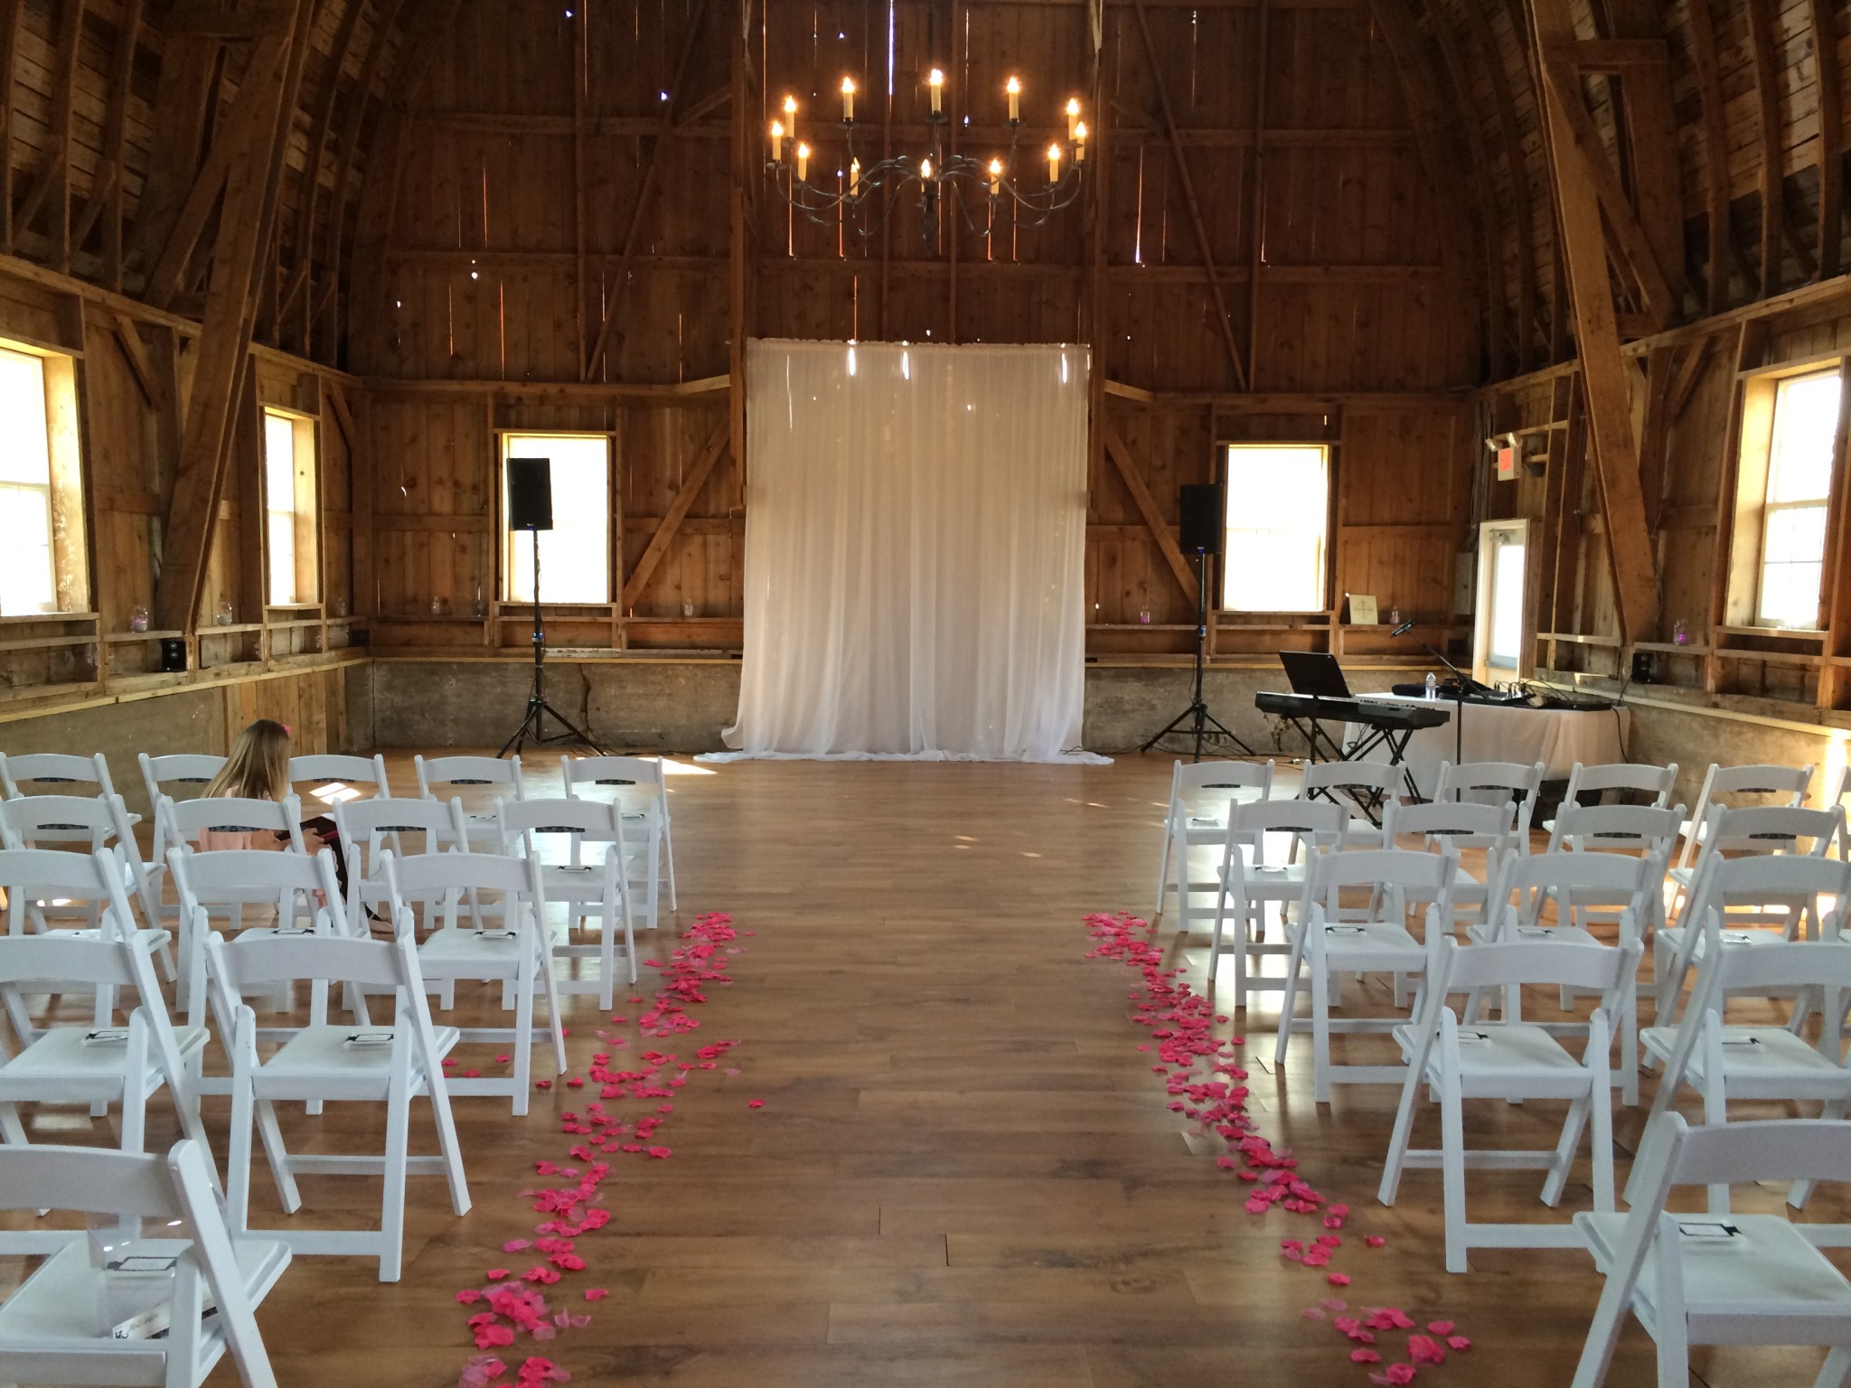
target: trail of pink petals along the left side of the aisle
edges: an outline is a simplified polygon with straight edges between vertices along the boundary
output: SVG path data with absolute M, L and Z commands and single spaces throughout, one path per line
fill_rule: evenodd
M 755 931 L 746 931 L 755 935 Z M 733 918 L 714 911 L 694 922 L 679 936 L 665 966 L 659 959 L 644 959 L 644 968 L 665 970 L 663 985 L 653 1001 L 637 1016 L 637 1031 L 644 1038 L 685 1036 L 700 1027 L 700 1018 L 690 1014 L 690 1007 L 707 1001 L 705 986 L 731 985 L 727 977 L 727 957 L 740 953 L 746 946 L 731 944 L 739 938 Z M 642 998 L 631 998 L 633 1005 Z M 626 1016 L 613 1016 L 613 1025 L 626 1025 Z M 568 1382 L 572 1375 L 550 1358 L 526 1355 L 511 1368 L 498 1351 L 513 1351 L 520 1336 L 533 1342 L 550 1342 L 561 1331 L 581 1331 L 590 1325 L 590 1312 L 555 1308 L 548 1305 L 544 1288 L 557 1286 L 568 1275 L 590 1273 L 594 1279 L 581 1240 L 594 1234 L 611 1221 L 611 1212 L 603 1208 L 603 1181 L 611 1173 L 611 1162 L 603 1157 L 640 1157 L 644 1160 L 666 1160 L 674 1157 L 674 1147 L 661 1144 L 659 1133 L 674 1114 L 674 1101 L 689 1083 L 689 1075 L 700 1070 L 718 1070 L 727 1051 L 739 1046 L 737 1040 L 700 1046 L 692 1060 L 683 1060 L 676 1051 L 642 1051 L 627 1068 L 613 1070 L 611 1057 L 627 1049 L 629 1040 L 611 1031 L 598 1031 L 602 1047 L 592 1055 L 585 1075 L 570 1075 L 566 1088 L 585 1088 L 587 1079 L 600 1086 L 598 1097 L 579 1110 L 559 1114 L 559 1131 L 574 1144 L 563 1160 L 540 1160 L 533 1170 L 542 1177 L 557 1177 L 559 1184 L 548 1188 L 522 1190 L 520 1197 L 544 1216 L 535 1227 L 535 1238 L 515 1238 L 502 1245 L 509 1255 L 535 1257 L 531 1268 L 516 1271 L 516 1262 L 528 1257 L 511 1258 L 507 1268 L 489 1268 L 483 1273 L 485 1286 L 465 1286 L 455 1299 L 470 1308 L 468 1331 L 476 1349 L 457 1379 L 457 1388 L 540 1388 L 548 1382 Z M 498 1057 L 505 1060 L 507 1057 Z M 450 1066 L 452 1062 L 444 1062 Z M 727 1075 L 739 1070 L 727 1066 Z M 553 1081 L 535 1081 L 535 1088 L 550 1090 Z M 626 1120 L 605 1109 L 605 1099 L 640 1099 L 648 1112 Z M 761 1099 L 748 1101 L 757 1109 Z M 570 1286 L 578 1292 L 578 1286 Z M 561 1288 L 565 1294 L 566 1288 Z M 609 1292 L 602 1286 L 583 1288 L 585 1303 L 603 1301 Z M 516 1351 L 518 1353 L 518 1351 Z M 513 1353 L 509 1355 L 515 1357 Z

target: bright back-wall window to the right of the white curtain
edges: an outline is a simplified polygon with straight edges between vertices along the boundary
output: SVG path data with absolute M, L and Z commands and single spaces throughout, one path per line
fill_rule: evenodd
M 1227 446 L 1222 607 L 1323 611 L 1331 450 L 1323 444 Z

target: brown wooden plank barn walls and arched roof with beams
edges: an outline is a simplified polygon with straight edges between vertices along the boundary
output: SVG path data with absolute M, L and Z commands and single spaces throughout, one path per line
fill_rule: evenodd
M 1218 664 L 1405 659 L 1344 592 L 1459 642 L 1475 524 L 1527 516 L 1540 675 L 1644 650 L 1673 703 L 1832 722 L 1851 564 L 1821 633 L 1766 633 L 1714 555 L 1742 376 L 1851 350 L 1844 30 L 1831 0 L 0 0 L 0 337 L 78 363 L 91 540 L 85 611 L 0 614 L 0 718 L 524 659 L 500 429 L 615 440 L 616 598 L 557 644 L 737 651 L 744 342 L 859 337 L 1094 348 L 1103 664 L 1185 659 L 1177 487 L 1216 444 L 1327 440 L 1331 607 L 1218 616 Z M 1024 150 L 1079 94 L 1079 202 L 937 246 L 911 204 L 868 241 L 792 218 L 772 104 L 835 159 L 851 72 L 861 139 L 918 148 L 933 63 L 963 152 L 1007 144 L 1009 72 Z M 252 524 L 267 403 L 320 444 L 294 609 Z

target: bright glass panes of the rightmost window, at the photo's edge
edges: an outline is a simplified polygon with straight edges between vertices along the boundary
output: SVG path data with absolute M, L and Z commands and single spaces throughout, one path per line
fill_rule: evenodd
M 1836 370 L 1790 376 L 1775 390 L 1757 598 L 1757 620 L 1766 626 L 1820 624 L 1838 390 Z

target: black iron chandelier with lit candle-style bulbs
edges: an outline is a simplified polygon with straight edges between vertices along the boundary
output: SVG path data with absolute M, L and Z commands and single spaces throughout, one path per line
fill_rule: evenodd
M 855 80 L 842 78 L 840 146 L 837 159 L 826 157 L 798 137 L 798 98 L 783 98 L 783 118 L 772 120 L 770 161 L 766 172 L 777 194 L 818 226 L 851 229 L 863 239 L 874 235 L 901 205 L 911 185 L 920 191 L 920 235 L 927 246 L 938 244 L 940 205 L 950 204 L 964 224 L 981 237 L 998 229 L 1001 211 L 1009 211 L 1009 226 L 1042 226 L 1057 211 L 1079 198 L 1081 174 L 1087 163 L 1087 122 L 1081 118 L 1079 98 L 1066 104 L 1066 141 L 1055 141 L 1044 154 L 1018 163 L 1022 141 L 1022 80 L 1003 83 L 1009 107 L 1009 148 L 988 159 L 948 154 L 944 133 L 950 120 L 944 115 L 944 70 L 931 68 L 926 76 L 931 98 L 926 115 L 927 148 L 922 154 L 896 155 L 863 163 L 855 150 Z M 829 130 L 827 126 L 824 130 Z M 822 144 L 826 135 L 818 133 Z M 1040 178 L 1046 159 L 1048 180 Z M 824 181 L 811 180 L 811 165 L 824 172 Z M 888 196 L 876 196 L 887 192 Z

